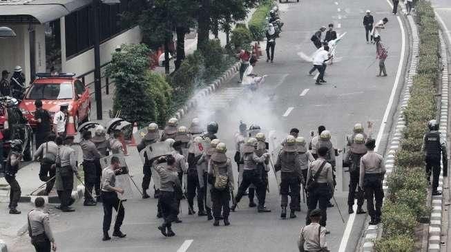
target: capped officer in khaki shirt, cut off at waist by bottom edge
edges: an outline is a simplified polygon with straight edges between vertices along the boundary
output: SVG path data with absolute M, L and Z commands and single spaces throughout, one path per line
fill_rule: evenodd
M 310 217 L 321 216 L 321 211 L 315 209 L 311 211 Z M 298 249 L 299 252 L 328 252 L 326 242 L 327 230 L 321 227 L 318 222 L 311 222 L 300 230 Z

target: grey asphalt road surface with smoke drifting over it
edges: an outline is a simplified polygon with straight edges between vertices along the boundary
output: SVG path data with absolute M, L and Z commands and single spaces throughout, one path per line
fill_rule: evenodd
M 387 77 L 376 77 L 378 72 L 374 45 L 365 43 L 362 25 L 365 10 L 372 10 L 375 21 L 388 17 L 387 29 L 382 39 L 389 48 L 385 62 Z M 204 123 L 216 120 L 220 129 L 218 137 L 227 144 L 229 157 L 233 158 L 233 134 L 238 131 L 239 121 L 247 125 L 256 123 L 271 132 L 270 141 L 278 145 L 291 127 L 301 129 L 301 136 L 309 139 L 309 131 L 325 125 L 332 132 L 336 148 L 343 147 L 345 134 L 349 134 L 354 123 L 374 123 L 373 136 L 378 135 L 382 123 L 390 123 L 391 116 L 383 122 L 390 94 L 394 86 L 401 58 L 401 28 L 391 15 L 385 1 L 302 1 L 282 3 L 282 20 L 285 22 L 281 38 L 276 41 L 274 63 L 265 63 L 260 58 L 256 73 L 267 74 L 265 84 L 256 94 L 248 94 L 233 78 L 204 106 L 190 112 L 180 123 L 189 125 L 191 118 L 199 117 Z M 312 54 L 316 48 L 309 40 L 321 25 L 334 23 L 339 34 L 347 32 L 337 48 L 337 60 L 328 65 L 325 85 L 314 85 L 313 76 L 307 74 L 311 63 L 304 61 L 298 53 Z M 264 49 L 264 48 L 263 48 Z M 264 52 L 265 53 L 265 52 Z M 372 65 L 371 65 L 372 64 Z M 402 85 L 401 75 L 399 87 Z M 394 101 L 396 105 L 396 99 Z M 385 130 L 389 130 L 385 127 Z M 381 134 L 382 138 L 387 132 Z M 141 161 L 135 156 L 127 158 L 134 179 L 140 184 Z M 337 163 L 340 163 L 340 157 Z M 236 171 L 236 169 L 235 169 Z M 345 218 L 347 214 L 347 173 L 337 167 L 338 186 L 335 197 Z M 247 207 L 247 199 L 231 214 L 231 226 L 213 227 L 212 222 L 197 216 L 187 216 L 186 202 L 182 202 L 183 223 L 175 224 L 174 238 L 164 238 L 156 227 L 161 220 L 155 218 L 157 200 L 135 198 L 126 202 L 126 218 L 123 231 L 127 238 L 102 242 L 102 206 L 82 207 L 75 205 L 75 213 L 65 213 L 52 218 L 59 251 L 296 251 L 296 240 L 300 228 L 305 224 L 306 205 L 298 218 L 280 220 L 280 197 L 274 176 L 270 177 L 270 193 L 267 207 L 272 213 L 256 213 Z M 328 209 L 327 243 L 331 251 L 338 251 L 342 243 L 346 224 L 343 224 L 336 207 Z M 347 231 L 341 251 L 354 251 L 361 231 L 365 226 L 365 215 L 356 216 Z M 11 251 L 30 251 L 28 237 L 17 241 Z

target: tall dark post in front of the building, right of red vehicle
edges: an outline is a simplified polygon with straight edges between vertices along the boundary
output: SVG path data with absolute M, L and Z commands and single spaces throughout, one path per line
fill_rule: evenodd
M 119 0 L 94 0 L 94 90 L 95 90 L 95 105 L 97 111 L 97 120 L 102 120 L 102 76 L 100 75 L 100 4 L 108 5 L 121 3 Z

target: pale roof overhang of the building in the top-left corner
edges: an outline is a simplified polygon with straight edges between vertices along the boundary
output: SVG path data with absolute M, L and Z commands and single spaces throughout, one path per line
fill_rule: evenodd
M 93 0 L 0 1 L 0 23 L 47 23 L 88 6 Z

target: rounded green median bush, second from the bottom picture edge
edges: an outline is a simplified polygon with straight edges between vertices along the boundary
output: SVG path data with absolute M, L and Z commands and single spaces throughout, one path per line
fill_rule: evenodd
M 383 236 L 413 235 L 416 218 L 406 204 L 385 201 L 382 215 Z

